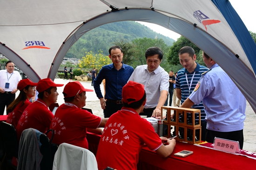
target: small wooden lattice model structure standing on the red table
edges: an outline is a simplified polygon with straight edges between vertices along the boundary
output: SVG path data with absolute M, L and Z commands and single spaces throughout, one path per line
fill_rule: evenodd
M 178 135 L 177 141 L 189 144 L 201 143 L 201 111 L 199 109 L 182 107 L 161 107 L 161 119 L 166 109 L 166 118 L 163 120 L 163 136 L 171 138 Z M 171 114 L 173 119 L 171 119 Z M 197 138 L 196 138 L 197 136 Z

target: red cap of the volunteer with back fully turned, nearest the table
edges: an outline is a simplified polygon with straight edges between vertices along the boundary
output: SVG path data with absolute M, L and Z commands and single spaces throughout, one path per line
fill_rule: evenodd
M 141 100 L 144 94 L 144 85 L 133 81 L 129 81 L 122 89 L 123 101 L 128 104 Z

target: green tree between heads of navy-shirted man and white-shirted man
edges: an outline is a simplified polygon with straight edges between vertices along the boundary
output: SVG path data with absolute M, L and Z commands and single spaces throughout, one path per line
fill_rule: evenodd
M 125 39 L 116 40 L 114 44 L 120 46 L 123 51 L 123 63 L 131 65 L 135 56 L 134 44 Z

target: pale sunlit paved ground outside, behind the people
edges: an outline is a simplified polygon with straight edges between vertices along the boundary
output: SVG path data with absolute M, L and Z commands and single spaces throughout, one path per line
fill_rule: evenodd
M 60 84 L 67 84 L 70 82 L 69 80 L 63 80 L 63 79 L 55 79 L 55 83 L 60 83 Z M 93 89 L 93 86 L 91 86 L 91 82 L 81 82 L 82 85 L 85 88 L 88 89 Z M 64 96 L 62 94 L 62 91 L 64 89 L 63 87 L 59 87 L 57 91 L 59 92 L 58 96 L 58 103 L 62 104 L 64 103 Z M 104 88 L 103 85 L 101 84 L 101 92 L 104 93 Z M 18 94 L 16 94 L 17 96 Z M 86 93 L 87 99 L 86 99 L 86 108 L 92 109 L 93 113 L 97 116 L 104 117 L 103 116 L 103 110 L 101 109 L 100 101 L 97 98 L 95 92 L 87 92 Z M 251 151 L 251 152 L 256 152 L 256 114 L 250 107 L 249 103 L 247 102 L 247 107 L 246 107 L 246 119 L 244 121 L 244 129 L 243 129 L 243 134 L 244 134 L 244 145 L 243 149 L 246 151 Z

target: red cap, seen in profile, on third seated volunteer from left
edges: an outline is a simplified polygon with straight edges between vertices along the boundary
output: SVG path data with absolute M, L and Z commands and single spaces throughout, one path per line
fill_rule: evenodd
M 65 98 L 74 97 L 82 92 L 93 92 L 91 89 L 84 88 L 81 82 L 68 82 L 63 90 L 63 95 Z

